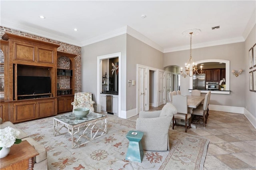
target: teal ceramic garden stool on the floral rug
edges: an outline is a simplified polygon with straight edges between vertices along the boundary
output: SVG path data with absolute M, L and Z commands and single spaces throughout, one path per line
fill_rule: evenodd
M 130 130 L 126 134 L 126 138 L 129 140 L 129 146 L 126 153 L 126 160 L 142 162 L 144 152 L 142 148 L 141 139 L 144 132 Z

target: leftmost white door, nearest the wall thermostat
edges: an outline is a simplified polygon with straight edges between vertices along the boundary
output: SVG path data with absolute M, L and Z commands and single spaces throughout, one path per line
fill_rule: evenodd
M 138 113 L 146 111 L 146 69 L 138 68 Z

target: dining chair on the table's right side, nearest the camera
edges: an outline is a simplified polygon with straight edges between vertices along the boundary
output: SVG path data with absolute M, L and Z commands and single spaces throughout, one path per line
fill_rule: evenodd
M 206 93 L 205 98 L 204 98 L 204 105 L 203 108 L 201 106 L 198 106 L 196 109 L 193 109 L 192 115 L 193 115 L 193 123 L 200 123 L 203 124 L 203 126 L 206 126 L 207 123 L 207 110 L 208 110 L 208 105 L 210 101 L 210 91 Z M 198 118 L 196 118 L 196 116 Z M 202 122 L 202 123 L 201 123 Z

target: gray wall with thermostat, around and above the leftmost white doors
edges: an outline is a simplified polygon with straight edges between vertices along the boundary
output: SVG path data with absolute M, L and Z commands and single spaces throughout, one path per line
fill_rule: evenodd
M 128 87 L 128 80 L 136 80 L 137 64 L 163 69 L 163 53 L 127 34 L 126 60 L 126 105 L 130 110 L 136 108 L 136 85 Z M 136 82 L 137 83 L 137 82 Z

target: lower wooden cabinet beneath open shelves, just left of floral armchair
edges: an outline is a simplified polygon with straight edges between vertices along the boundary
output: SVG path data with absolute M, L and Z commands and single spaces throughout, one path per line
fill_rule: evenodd
M 58 97 L 58 113 L 66 113 L 73 110 L 71 103 L 74 101 L 74 96 Z

